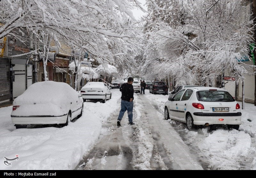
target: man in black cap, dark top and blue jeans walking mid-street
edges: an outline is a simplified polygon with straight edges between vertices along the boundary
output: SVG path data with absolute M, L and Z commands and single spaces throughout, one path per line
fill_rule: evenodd
M 121 120 L 124 116 L 124 112 L 127 110 L 128 120 L 130 125 L 134 125 L 132 122 L 132 110 L 133 110 L 133 86 L 132 86 L 133 78 L 129 77 L 127 83 L 123 83 L 120 87 L 120 91 L 122 92 L 121 96 L 121 110 L 119 112 L 117 118 L 117 126 L 121 126 Z

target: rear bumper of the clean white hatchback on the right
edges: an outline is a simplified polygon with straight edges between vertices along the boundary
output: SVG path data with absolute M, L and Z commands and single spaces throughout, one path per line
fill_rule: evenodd
M 204 113 L 204 112 L 194 112 L 193 120 L 195 125 L 205 125 L 208 123 L 212 124 L 232 124 L 241 125 L 241 112 L 235 113 Z M 220 121 L 219 119 L 223 119 Z

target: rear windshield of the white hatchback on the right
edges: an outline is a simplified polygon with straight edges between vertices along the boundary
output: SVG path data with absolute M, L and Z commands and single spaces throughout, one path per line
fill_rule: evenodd
M 206 102 L 232 102 L 235 99 L 227 91 L 197 91 L 196 97 L 198 101 Z

